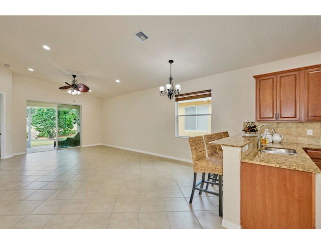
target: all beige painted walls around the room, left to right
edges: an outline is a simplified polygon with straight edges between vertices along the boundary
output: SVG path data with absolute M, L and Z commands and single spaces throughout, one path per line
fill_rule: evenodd
M 242 132 L 255 120 L 253 75 L 321 63 L 321 52 L 207 76 L 181 83 L 182 93 L 212 90 L 212 132 Z M 167 77 L 164 76 L 166 81 Z M 175 137 L 175 102 L 158 88 L 104 100 L 88 93 L 74 97 L 42 80 L 12 76 L 0 67 L 0 92 L 6 98 L 5 157 L 26 152 L 26 101 L 82 105 L 82 145 L 106 144 L 191 161 L 187 138 Z M 13 142 L 13 139 L 15 141 Z

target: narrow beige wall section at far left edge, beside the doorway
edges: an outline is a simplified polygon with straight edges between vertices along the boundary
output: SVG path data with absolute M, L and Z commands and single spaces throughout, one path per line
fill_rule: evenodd
M 3 132 L 0 136 L 0 144 L 2 144 L 3 148 L 3 151 L 1 151 L 1 158 L 8 158 L 13 155 L 12 73 L 2 67 L 0 67 L 0 93 L 3 95 L 4 99 L 4 123 L 2 126 Z

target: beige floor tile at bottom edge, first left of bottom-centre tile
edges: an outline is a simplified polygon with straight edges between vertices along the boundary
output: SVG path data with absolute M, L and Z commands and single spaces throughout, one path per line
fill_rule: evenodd
M 110 215 L 107 229 L 137 229 L 138 228 L 138 212 L 137 213 L 112 213 Z

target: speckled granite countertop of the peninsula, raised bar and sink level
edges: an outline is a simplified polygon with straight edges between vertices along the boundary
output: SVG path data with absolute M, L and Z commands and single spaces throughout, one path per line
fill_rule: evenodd
M 242 134 L 222 138 L 211 143 L 231 146 L 231 147 L 243 147 L 252 141 L 257 142 L 257 137 L 242 136 Z M 298 143 L 270 143 L 270 147 L 274 148 L 286 148 L 295 149 L 297 155 L 280 155 L 272 153 L 259 152 L 257 148 L 250 150 L 244 155 L 240 161 L 252 164 L 267 165 L 272 167 L 287 168 L 293 170 L 299 170 L 304 172 L 321 173 L 321 170 L 315 165 L 311 158 L 305 153 L 302 148 L 321 149 L 321 145 L 309 145 Z

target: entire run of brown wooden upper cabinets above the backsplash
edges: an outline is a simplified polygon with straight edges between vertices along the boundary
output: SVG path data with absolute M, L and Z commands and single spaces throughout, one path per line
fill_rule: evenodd
M 253 76 L 256 121 L 321 121 L 321 65 Z

